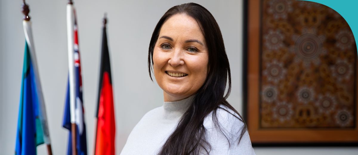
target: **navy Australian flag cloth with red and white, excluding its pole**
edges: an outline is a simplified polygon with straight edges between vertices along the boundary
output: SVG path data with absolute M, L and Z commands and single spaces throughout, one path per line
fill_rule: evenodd
M 74 21 L 74 80 L 75 88 L 75 118 L 76 118 L 76 149 L 78 155 L 87 155 L 86 124 L 84 122 L 84 108 L 82 98 L 81 63 L 78 50 L 77 23 Z M 67 155 L 72 155 L 72 131 L 71 131 L 71 109 L 70 109 L 70 83 L 67 83 L 67 95 L 65 101 L 64 118 L 62 126 L 69 130 Z

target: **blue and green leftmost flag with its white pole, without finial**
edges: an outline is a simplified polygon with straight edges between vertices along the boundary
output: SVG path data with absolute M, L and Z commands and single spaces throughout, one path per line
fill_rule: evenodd
M 39 80 L 31 22 L 23 21 L 24 64 L 16 132 L 15 155 L 36 155 L 36 147 L 50 145 L 44 99 Z

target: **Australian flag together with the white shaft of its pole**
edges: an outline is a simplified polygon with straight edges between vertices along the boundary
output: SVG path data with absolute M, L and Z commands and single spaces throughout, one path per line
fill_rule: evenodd
M 67 5 L 67 32 L 69 75 L 62 126 L 69 130 L 67 155 L 72 155 L 71 124 L 76 124 L 76 150 L 78 155 L 87 155 L 86 124 L 82 97 L 81 62 L 78 50 L 76 15 L 72 4 Z

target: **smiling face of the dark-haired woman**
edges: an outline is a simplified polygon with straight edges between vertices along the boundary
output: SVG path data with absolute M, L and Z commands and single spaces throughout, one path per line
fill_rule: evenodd
M 193 95 L 208 72 L 208 48 L 197 21 L 176 14 L 162 25 L 154 47 L 154 76 L 164 91 L 164 101 Z

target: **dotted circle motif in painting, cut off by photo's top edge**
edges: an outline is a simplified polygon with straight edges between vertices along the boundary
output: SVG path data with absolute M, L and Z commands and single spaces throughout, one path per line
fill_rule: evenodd
M 272 0 L 269 1 L 267 12 L 274 15 L 274 19 L 287 19 L 287 13 L 291 13 L 292 10 L 292 1 Z

